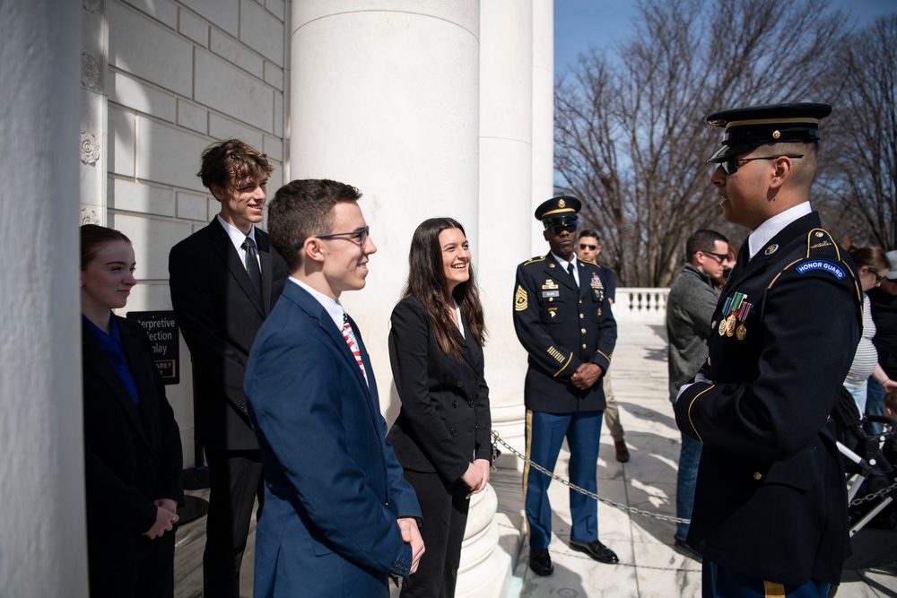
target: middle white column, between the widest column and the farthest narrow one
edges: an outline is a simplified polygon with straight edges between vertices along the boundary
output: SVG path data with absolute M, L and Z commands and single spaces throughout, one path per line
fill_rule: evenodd
M 480 52 L 480 284 L 492 429 L 524 449 L 527 353 L 514 332 L 514 274 L 532 256 L 533 2 L 483 0 Z M 522 464 L 501 448 L 499 466 Z

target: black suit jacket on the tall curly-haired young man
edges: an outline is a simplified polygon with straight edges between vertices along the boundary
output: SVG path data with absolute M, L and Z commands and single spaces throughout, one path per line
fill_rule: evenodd
M 172 247 L 169 256 L 171 305 L 194 365 L 196 438 L 206 448 L 258 448 L 249 428 L 243 377 L 258 328 L 289 273 L 258 228 L 256 245 L 262 298 L 217 217 Z

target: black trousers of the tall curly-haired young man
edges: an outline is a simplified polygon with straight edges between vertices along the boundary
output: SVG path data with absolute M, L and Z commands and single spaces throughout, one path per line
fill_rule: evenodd
M 260 451 L 205 450 L 209 515 L 205 527 L 203 585 L 209 598 L 239 598 L 239 567 L 246 550 L 252 506 L 262 516 L 265 486 Z

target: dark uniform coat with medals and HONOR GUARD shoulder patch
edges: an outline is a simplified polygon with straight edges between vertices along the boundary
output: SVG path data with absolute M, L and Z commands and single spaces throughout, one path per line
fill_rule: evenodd
M 783 584 L 839 583 L 848 550 L 829 414 L 857 349 L 861 303 L 853 262 L 818 227 L 807 214 L 736 264 L 713 315 L 710 382 L 675 403 L 679 429 L 704 443 L 689 544 Z M 720 335 L 736 292 L 753 307 L 743 332 L 722 324 Z

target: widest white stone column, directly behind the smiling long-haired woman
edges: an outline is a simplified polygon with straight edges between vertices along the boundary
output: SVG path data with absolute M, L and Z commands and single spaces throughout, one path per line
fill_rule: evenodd
M 481 283 L 494 257 L 480 234 L 494 223 L 478 211 L 480 6 L 310 0 L 292 12 L 291 178 L 335 178 L 364 194 L 378 253 L 366 288 L 341 301 L 359 322 L 391 422 L 399 404 L 388 321 L 414 229 L 434 216 L 460 221 Z M 459 597 L 501 595 L 509 576 L 509 555 L 496 550 L 496 507 L 492 488 L 471 501 Z

